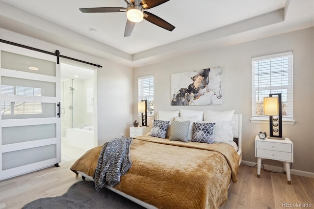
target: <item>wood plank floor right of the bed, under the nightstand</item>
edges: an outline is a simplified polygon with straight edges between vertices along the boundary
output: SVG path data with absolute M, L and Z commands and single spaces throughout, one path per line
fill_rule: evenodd
M 283 209 L 287 204 L 311 204 L 314 208 L 314 179 L 291 175 L 291 184 L 283 173 L 240 165 L 238 182 L 231 185 L 228 201 L 221 209 Z M 293 208 L 293 207 L 290 207 Z M 301 208 L 294 207 L 294 208 Z

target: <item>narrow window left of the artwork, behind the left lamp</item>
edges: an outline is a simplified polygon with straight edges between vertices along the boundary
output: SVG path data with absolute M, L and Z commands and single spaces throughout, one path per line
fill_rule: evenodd
M 138 78 L 138 102 L 147 100 L 147 114 L 154 114 L 154 77 Z

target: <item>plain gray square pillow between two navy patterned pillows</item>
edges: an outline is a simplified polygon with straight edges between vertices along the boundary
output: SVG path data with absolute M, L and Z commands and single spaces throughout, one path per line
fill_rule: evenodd
M 188 128 L 191 121 L 172 121 L 171 122 L 171 134 L 169 140 L 171 141 L 184 141 L 188 142 Z

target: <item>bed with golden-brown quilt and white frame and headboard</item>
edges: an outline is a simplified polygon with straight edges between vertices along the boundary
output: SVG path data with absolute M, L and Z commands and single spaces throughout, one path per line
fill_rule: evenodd
M 133 137 L 130 170 L 121 176 L 120 183 L 105 187 L 145 208 L 219 208 L 227 201 L 231 183 L 237 182 L 236 173 L 242 159 L 242 115 L 233 112 L 228 122 L 232 127 L 232 142 L 183 142 L 170 140 L 171 135 L 160 138 L 153 134 Z M 179 114 L 183 115 L 183 111 Z M 201 122 L 201 119 L 205 124 L 213 121 L 208 120 L 205 111 L 202 114 L 202 118 L 194 117 L 194 120 Z M 165 114 L 159 111 L 158 119 L 177 120 L 177 113 L 174 115 L 167 118 L 167 112 L 163 117 Z M 178 121 L 187 118 L 179 117 Z M 174 125 L 173 122 L 169 132 L 175 131 Z M 101 150 L 102 145 L 78 158 L 71 167 L 77 177 L 80 174 L 83 179 L 94 181 Z

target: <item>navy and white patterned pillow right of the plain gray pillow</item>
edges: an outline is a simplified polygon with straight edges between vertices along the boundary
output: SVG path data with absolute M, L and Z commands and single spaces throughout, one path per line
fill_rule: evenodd
M 194 123 L 193 142 L 213 143 L 215 123 Z

